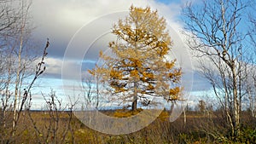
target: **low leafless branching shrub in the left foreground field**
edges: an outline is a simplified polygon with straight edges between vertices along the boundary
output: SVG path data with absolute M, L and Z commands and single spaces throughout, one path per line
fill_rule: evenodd
M 33 142 L 67 143 L 68 134 L 72 136 L 72 142 L 74 142 L 73 108 L 78 101 L 70 102 L 63 106 L 62 100 L 55 95 L 53 89 L 51 89 L 49 95 L 44 95 L 43 93 L 42 95 L 46 104 L 44 114 L 48 116 L 44 120 L 45 125 L 42 127 L 40 120 L 38 120 L 40 118 L 33 116 L 33 112 L 28 111 L 28 116 L 36 132 L 36 141 Z

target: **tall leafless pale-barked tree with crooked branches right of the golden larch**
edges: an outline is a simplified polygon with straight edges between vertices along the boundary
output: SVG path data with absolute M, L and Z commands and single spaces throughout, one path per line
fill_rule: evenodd
M 224 109 L 232 136 L 240 134 L 242 83 L 246 61 L 247 33 L 241 25 L 249 3 L 241 0 L 188 3 L 183 9 L 189 48 L 200 61 L 200 71 L 212 84 Z

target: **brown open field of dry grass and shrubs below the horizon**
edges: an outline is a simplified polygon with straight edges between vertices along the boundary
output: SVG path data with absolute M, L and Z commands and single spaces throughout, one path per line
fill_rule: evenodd
M 104 113 L 123 117 L 125 112 Z M 249 112 L 242 112 L 242 118 L 242 135 L 236 140 L 240 141 L 238 143 L 256 142 L 256 118 Z M 90 130 L 70 112 L 34 111 L 23 112 L 15 135 L 6 135 L 8 131 L 1 128 L 2 143 L 232 143 L 230 130 L 220 112 L 186 112 L 186 118 L 182 115 L 172 123 L 168 121 L 168 112 L 162 112 L 143 130 L 129 135 L 107 135 Z

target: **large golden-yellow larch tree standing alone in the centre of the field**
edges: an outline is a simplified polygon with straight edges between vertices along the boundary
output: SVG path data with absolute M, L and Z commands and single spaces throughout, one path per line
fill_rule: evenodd
M 112 55 L 100 52 L 102 66 L 89 72 L 101 75 L 109 85 L 111 96 L 131 102 L 131 110 L 154 104 L 152 98 L 177 101 L 181 95 L 181 68 L 170 60 L 171 37 L 166 20 L 149 7 L 131 6 L 129 16 L 113 26 L 117 39 L 108 44 Z M 124 102 L 124 103 L 125 103 Z

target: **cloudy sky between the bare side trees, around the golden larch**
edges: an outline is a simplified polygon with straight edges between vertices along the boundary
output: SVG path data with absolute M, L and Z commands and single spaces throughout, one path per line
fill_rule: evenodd
M 195 0 L 193 1 L 196 2 Z M 173 37 L 172 56 L 177 58 L 179 66 L 187 75 L 183 83 L 188 84 L 192 91 L 190 102 L 197 103 L 210 85 L 207 81 L 193 73 L 193 61 L 188 50 L 183 46 L 181 35 L 182 22 L 179 20 L 181 6 L 185 0 L 36 0 L 32 3 L 32 17 L 36 29 L 32 36 L 38 43 L 49 38 L 49 55 L 45 61 L 47 69 L 43 78 L 39 79 L 35 89 L 35 107 L 44 107 L 41 92 L 49 93 L 50 89 L 56 95 L 67 99 L 71 93 L 65 89 L 75 89 L 76 82 L 86 74 L 86 68 L 95 65 L 100 49 L 108 51 L 107 44 L 113 36 L 110 34 L 113 23 L 125 17 L 133 4 L 137 7 L 149 6 L 157 9 L 170 28 Z M 179 48 L 180 47 L 180 48 Z M 176 48 L 176 49 L 175 49 Z M 85 72 L 85 73 L 84 73 Z M 63 76 L 64 75 L 64 76 Z M 63 86 L 64 83 L 64 86 Z

